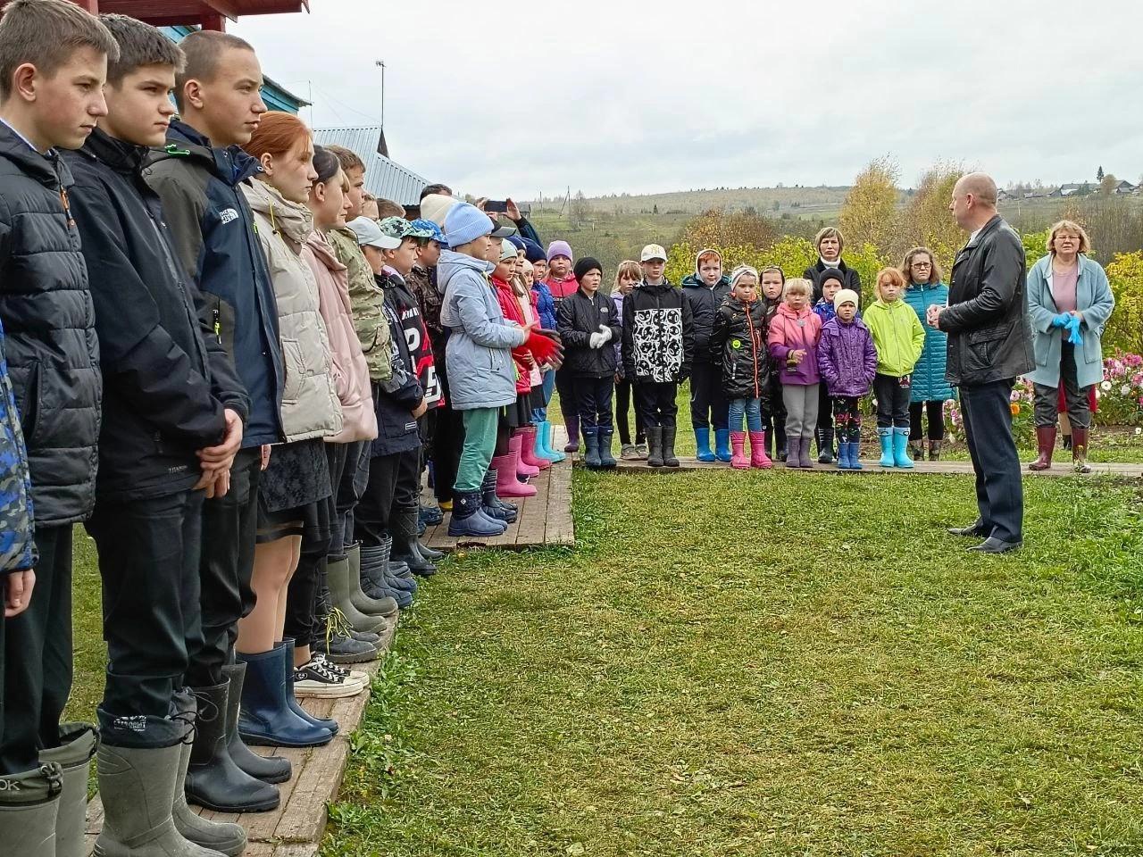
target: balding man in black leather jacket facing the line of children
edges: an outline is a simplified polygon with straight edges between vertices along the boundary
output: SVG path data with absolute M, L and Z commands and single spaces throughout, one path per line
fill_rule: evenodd
M 946 307 L 928 321 L 949 334 L 949 382 L 960 389 L 965 439 L 976 471 L 980 518 L 954 535 L 983 536 L 970 547 L 1004 553 L 1023 540 L 1024 495 L 1012 434 L 1012 389 L 1032 369 L 1028 330 L 1024 247 L 997 214 L 996 183 L 983 173 L 962 176 L 949 206 L 968 243 L 952 265 Z

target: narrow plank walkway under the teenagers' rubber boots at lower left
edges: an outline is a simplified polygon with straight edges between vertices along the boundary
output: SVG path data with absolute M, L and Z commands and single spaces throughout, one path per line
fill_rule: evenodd
M 353 668 L 370 676 L 379 660 L 354 664 Z M 344 699 L 303 699 L 305 710 L 320 718 L 334 718 L 341 730 L 323 747 L 251 747 L 262 755 L 282 755 L 294 766 L 294 776 L 280 784 L 281 804 L 271 812 L 213 812 L 195 808 L 205 818 L 237 822 L 246 827 L 249 844 L 246 857 L 313 857 L 326 830 L 328 801 L 335 800 L 345 774 L 350 753 L 350 734 L 358 728 L 369 702 L 368 691 Z M 98 795 L 87 807 L 87 854 L 95 848 L 95 838 L 103 827 L 103 804 Z

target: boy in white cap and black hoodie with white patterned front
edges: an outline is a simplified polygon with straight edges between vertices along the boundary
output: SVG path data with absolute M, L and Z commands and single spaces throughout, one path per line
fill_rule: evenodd
M 647 431 L 647 464 L 678 467 L 674 400 L 694 359 L 690 305 L 663 277 L 662 247 L 647 245 L 640 266 L 642 282 L 623 302 L 623 373 L 634 383 L 636 410 Z

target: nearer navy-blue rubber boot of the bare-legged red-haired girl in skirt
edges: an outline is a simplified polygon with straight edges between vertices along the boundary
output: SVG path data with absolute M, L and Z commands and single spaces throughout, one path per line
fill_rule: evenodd
M 319 747 L 334 734 L 295 714 L 286 702 L 282 648 L 257 655 L 237 652 L 246 664 L 238 731 L 247 744 L 277 747 Z

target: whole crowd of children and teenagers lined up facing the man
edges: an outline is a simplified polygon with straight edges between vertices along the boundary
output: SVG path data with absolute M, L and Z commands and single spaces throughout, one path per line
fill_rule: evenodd
M 701 460 L 812 467 L 816 438 L 820 463 L 861 468 L 870 392 L 880 465 L 912 466 L 925 417 L 941 452 L 929 250 L 879 272 L 864 307 L 834 229 L 801 278 L 726 274 L 706 249 L 676 288 L 648 245 L 608 294 L 514 203 L 507 226 L 443 185 L 414 219 L 367 199 L 367 165 L 267 112 L 262 83 L 224 33 L 176 47 L 67 0 L 0 19 L 0 841 L 17 854 L 82 852 L 93 758 L 97 854 L 241 854 L 239 825 L 187 802 L 279 804 L 289 761 L 248 745 L 331 740 L 341 724 L 297 697 L 365 689 L 344 664 L 385 651 L 435 572 L 425 527 L 450 512 L 453 536 L 503 534 L 565 452 L 616 466 L 616 427 L 621 458 L 679 466 L 680 383 Z M 78 522 L 103 583 L 97 726 L 59 723 Z

